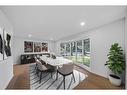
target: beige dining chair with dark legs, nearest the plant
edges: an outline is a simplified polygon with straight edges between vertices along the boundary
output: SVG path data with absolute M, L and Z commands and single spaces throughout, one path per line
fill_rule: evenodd
M 74 77 L 74 73 L 73 73 L 73 68 L 74 68 L 74 64 L 69 63 L 69 64 L 63 64 L 62 67 L 58 67 L 57 69 L 57 73 L 56 73 L 56 80 L 58 79 L 58 73 L 61 74 L 63 76 L 63 82 L 64 82 L 64 89 L 65 89 L 65 77 L 68 75 L 73 76 L 74 82 L 75 82 L 75 77 Z

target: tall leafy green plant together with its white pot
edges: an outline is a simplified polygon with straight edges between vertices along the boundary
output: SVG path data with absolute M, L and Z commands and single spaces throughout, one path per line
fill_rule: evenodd
M 122 81 L 120 74 L 125 70 L 125 57 L 123 50 L 118 43 L 115 43 L 111 46 L 110 52 L 107 56 L 108 61 L 105 65 L 107 65 L 112 71 L 112 74 L 109 74 L 109 80 L 113 85 L 120 86 Z

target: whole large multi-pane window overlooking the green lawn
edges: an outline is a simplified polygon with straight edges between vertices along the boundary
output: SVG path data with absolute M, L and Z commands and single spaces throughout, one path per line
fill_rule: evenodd
M 74 63 L 90 67 L 90 39 L 61 43 L 61 55 Z

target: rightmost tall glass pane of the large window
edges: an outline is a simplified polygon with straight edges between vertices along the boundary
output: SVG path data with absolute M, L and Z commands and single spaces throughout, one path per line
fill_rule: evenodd
M 83 64 L 90 66 L 90 40 L 84 40 L 84 55 L 83 55 Z

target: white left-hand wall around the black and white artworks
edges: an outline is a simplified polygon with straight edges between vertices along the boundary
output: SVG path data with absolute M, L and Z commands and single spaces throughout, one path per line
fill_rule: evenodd
M 6 29 L 13 37 L 12 26 L 1 10 L 0 10 L 0 27 Z M 13 44 L 13 41 L 11 44 Z M 6 60 L 0 61 L 0 89 L 5 89 L 12 77 L 13 77 L 13 55 L 11 57 L 8 57 Z

